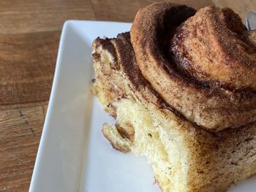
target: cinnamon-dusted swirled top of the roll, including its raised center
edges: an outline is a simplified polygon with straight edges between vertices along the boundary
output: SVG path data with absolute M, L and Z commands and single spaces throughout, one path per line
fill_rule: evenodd
M 151 4 L 130 35 L 143 78 L 187 120 L 213 132 L 256 120 L 256 35 L 231 9 Z

